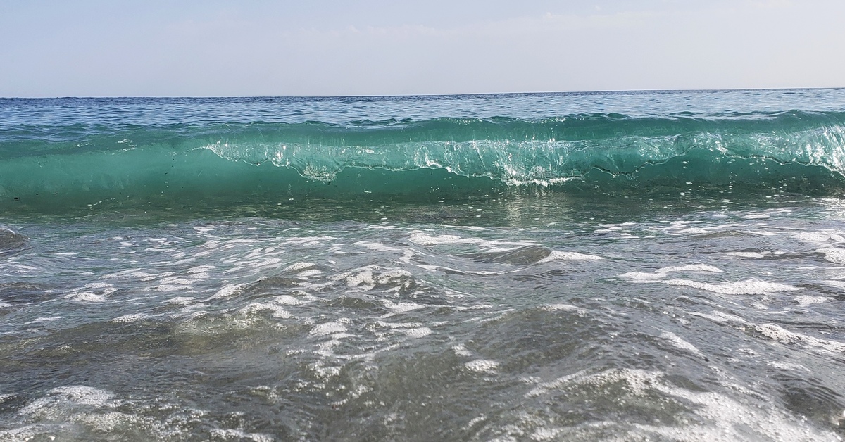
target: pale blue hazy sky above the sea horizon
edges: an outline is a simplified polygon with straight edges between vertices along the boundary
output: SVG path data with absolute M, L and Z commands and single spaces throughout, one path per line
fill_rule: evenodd
M 842 0 L 0 0 L 0 96 L 845 86 Z

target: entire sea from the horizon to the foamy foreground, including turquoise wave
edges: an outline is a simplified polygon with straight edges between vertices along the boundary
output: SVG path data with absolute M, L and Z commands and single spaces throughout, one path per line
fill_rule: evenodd
M 2 440 L 841 440 L 845 90 L 0 99 Z

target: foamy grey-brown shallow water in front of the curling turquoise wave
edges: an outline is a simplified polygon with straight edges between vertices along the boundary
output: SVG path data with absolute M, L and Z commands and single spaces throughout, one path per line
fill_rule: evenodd
M 7 210 L 0 439 L 845 434 L 837 194 L 423 196 Z

